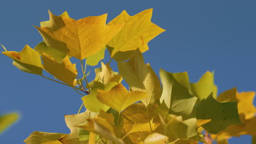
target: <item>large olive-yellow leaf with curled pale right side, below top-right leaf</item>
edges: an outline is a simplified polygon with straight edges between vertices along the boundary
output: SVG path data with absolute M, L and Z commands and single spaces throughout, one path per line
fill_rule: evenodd
M 148 92 L 149 97 L 142 99 L 146 106 L 160 99 L 161 83 L 149 64 L 144 63 L 142 53 L 137 49 L 127 62 L 119 62 L 120 74 L 132 91 Z

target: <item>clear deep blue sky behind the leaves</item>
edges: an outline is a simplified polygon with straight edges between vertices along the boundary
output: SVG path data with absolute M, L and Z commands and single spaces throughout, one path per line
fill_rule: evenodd
M 66 10 L 77 20 L 108 13 L 110 21 L 123 10 L 135 15 L 154 8 L 152 22 L 166 32 L 150 41 L 144 59 L 157 74 L 160 68 L 172 73 L 188 71 L 190 81 L 196 82 L 207 70 L 214 70 L 218 93 L 232 87 L 240 92 L 256 91 L 256 1 L 9 0 L 0 5 L 0 43 L 9 51 L 42 41 L 33 25 L 49 20 L 48 9 L 56 15 Z M 69 133 L 64 115 L 77 113 L 80 95 L 72 88 L 24 73 L 11 63 L 0 55 L 0 114 L 18 111 L 21 118 L 0 135 L 0 143 L 22 143 L 33 131 Z M 242 136 L 230 143 L 250 141 L 250 136 Z

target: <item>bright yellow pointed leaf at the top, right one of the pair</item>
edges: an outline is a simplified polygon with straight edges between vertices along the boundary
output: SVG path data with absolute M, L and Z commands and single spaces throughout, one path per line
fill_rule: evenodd
M 132 51 L 139 48 L 141 52 L 148 50 L 148 42 L 165 30 L 151 22 L 153 9 L 147 9 L 134 16 L 124 10 L 108 23 L 108 26 L 125 23 L 123 29 L 109 41 L 107 46 L 113 47 L 111 57 L 119 51 Z

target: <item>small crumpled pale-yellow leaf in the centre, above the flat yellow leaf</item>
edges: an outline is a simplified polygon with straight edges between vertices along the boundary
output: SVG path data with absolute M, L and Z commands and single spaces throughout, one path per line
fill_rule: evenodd
M 101 62 L 101 67 L 100 69 L 95 69 L 96 73 L 96 81 L 100 80 L 103 84 L 109 83 L 109 82 L 118 82 L 120 83 L 123 78 L 120 74 L 117 72 L 114 72 L 109 64 L 107 63 L 106 65 Z

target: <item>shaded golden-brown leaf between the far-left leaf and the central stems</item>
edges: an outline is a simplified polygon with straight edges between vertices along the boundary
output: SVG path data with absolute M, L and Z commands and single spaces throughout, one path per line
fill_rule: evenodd
M 55 76 L 57 79 L 67 83 L 68 85 L 75 86 L 77 85 L 77 69 L 75 64 L 72 64 L 69 61 L 68 56 L 66 56 L 61 63 L 58 63 L 53 59 L 53 57 L 42 53 L 43 67 L 48 73 Z

